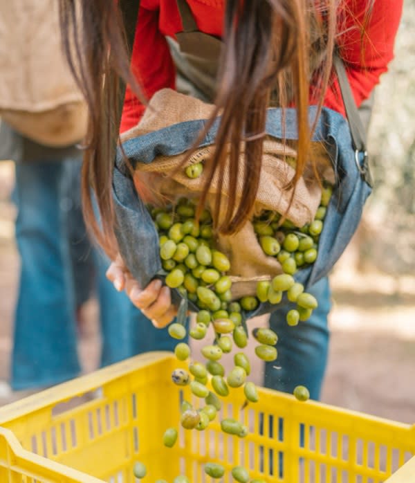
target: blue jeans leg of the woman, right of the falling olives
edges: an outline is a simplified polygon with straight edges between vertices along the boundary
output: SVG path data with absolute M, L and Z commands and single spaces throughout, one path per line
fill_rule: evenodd
M 308 290 L 318 300 L 311 318 L 290 327 L 286 313 L 293 304 L 270 316 L 270 328 L 278 334 L 278 358 L 266 363 L 264 384 L 267 388 L 293 393 L 295 386 L 305 385 L 311 399 L 320 398 L 326 369 L 329 330 L 327 317 L 331 309 L 331 291 L 326 277 Z

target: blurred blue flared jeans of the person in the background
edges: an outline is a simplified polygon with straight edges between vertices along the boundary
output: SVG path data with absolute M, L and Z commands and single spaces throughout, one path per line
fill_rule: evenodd
M 54 385 L 80 374 L 75 324 L 76 297 L 65 163 L 17 163 L 14 201 L 21 259 L 11 385 L 15 390 Z M 73 185 L 79 194 L 79 185 Z M 76 192 L 76 191 L 75 191 Z M 82 259 L 75 260 L 75 266 Z M 151 350 L 173 350 L 167 330 L 155 329 L 105 277 L 109 262 L 93 250 L 102 327 L 101 364 Z

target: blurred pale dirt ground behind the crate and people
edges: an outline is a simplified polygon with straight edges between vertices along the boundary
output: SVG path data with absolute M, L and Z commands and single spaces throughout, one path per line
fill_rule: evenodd
M 0 163 L 0 405 L 24 396 L 10 394 L 6 382 L 12 343 L 12 312 L 18 267 L 10 205 L 13 167 Z M 415 423 L 415 279 L 356 273 L 351 248 L 331 276 L 329 365 L 322 401 L 405 423 Z M 80 338 L 85 371 L 99 354 L 95 302 Z M 266 321 L 259 320 L 263 324 Z M 256 374 L 260 374 L 258 367 Z

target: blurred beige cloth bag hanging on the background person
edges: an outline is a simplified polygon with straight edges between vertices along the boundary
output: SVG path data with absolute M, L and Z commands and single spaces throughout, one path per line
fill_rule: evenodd
M 57 0 L 0 1 L 0 113 L 45 145 L 84 136 L 86 108 L 62 53 Z

